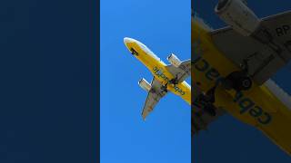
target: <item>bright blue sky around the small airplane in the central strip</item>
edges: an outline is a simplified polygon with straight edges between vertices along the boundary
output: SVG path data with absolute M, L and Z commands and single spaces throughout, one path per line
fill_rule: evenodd
M 137 82 L 152 74 L 123 43 L 135 38 L 164 62 L 170 53 L 189 59 L 190 0 L 101 0 L 100 15 L 101 162 L 190 162 L 190 106 L 169 93 L 143 121 L 146 91 Z

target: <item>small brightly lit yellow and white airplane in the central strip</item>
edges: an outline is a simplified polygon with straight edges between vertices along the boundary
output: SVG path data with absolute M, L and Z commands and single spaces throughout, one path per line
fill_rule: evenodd
M 191 87 L 185 81 L 191 73 L 190 60 L 181 62 L 174 53 L 171 53 L 167 57 L 168 62 L 170 62 L 167 65 L 155 53 L 150 51 L 145 44 L 128 37 L 124 38 L 124 43 L 130 53 L 145 64 L 154 75 L 150 84 L 144 78 L 138 82 L 138 85 L 148 92 L 142 111 L 143 120 L 146 120 L 146 116 L 154 110 L 156 103 L 168 91 L 180 96 L 189 105 L 191 104 Z

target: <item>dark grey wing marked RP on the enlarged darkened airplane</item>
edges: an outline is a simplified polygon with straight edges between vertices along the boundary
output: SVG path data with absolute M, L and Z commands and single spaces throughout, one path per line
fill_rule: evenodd
M 291 11 L 268 16 L 261 23 L 268 34 L 264 31 L 256 34 L 265 34 L 265 38 L 275 40 L 273 45 L 278 51 L 266 43 L 236 33 L 231 27 L 211 33 L 216 47 L 232 62 L 239 65 L 248 60 L 249 75 L 257 84 L 266 82 L 291 59 Z

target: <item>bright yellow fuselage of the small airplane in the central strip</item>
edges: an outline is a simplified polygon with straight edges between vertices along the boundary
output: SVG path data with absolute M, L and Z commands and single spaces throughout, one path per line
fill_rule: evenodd
M 134 40 L 133 42 L 125 43 L 125 45 L 129 51 L 133 48 L 135 52 L 138 53 L 135 55 L 135 58 L 146 65 L 148 70 L 153 73 L 158 82 L 166 85 L 169 80 L 175 78 L 171 72 L 167 71 L 166 63 L 155 57 L 156 55 L 149 51 L 144 44 Z M 191 104 L 191 87 L 186 82 L 180 82 L 176 85 L 168 83 L 167 90 L 172 91 L 185 100 L 188 104 Z

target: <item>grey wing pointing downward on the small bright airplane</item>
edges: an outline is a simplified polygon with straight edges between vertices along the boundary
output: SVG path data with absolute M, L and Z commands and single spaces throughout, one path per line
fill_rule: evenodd
M 163 85 L 156 81 L 155 77 L 153 78 L 151 82 L 151 89 L 148 91 L 145 106 L 142 112 L 142 117 L 144 120 L 146 120 L 146 116 L 154 110 L 156 103 L 160 101 L 162 97 L 166 95 L 166 91 L 163 91 L 161 89 Z

